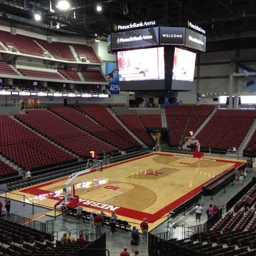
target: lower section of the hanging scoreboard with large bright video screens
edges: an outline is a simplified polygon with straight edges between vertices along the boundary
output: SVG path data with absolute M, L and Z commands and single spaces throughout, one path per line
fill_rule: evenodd
M 117 52 L 120 90 L 192 90 L 195 58 L 172 46 Z

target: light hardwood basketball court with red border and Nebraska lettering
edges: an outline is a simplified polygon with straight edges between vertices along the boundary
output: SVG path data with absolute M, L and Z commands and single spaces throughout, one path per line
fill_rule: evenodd
M 108 215 L 114 210 L 119 219 L 137 227 L 147 218 L 152 230 L 166 220 L 171 210 L 200 192 L 204 183 L 244 163 L 244 160 L 156 152 L 110 164 L 103 172 L 80 175 L 74 184 L 84 210 L 103 209 Z M 23 201 L 25 195 L 35 204 L 53 207 L 64 198 L 67 178 L 15 191 L 20 196 L 11 193 L 8 196 Z

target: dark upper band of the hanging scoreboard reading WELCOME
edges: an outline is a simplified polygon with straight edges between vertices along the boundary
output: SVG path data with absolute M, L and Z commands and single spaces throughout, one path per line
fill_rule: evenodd
M 108 36 L 108 52 L 163 45 L 183 45 L 205 52 L 206 37 L 181 27 L 137 29 L 112 33 Z

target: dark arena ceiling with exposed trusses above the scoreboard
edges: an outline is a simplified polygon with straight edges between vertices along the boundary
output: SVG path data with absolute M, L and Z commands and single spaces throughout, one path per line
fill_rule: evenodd
M 115 24 L 155 21 L 157 26 L 187 27 L 188 20 L 206 31 L 207 41 L 256 35 L 255 0 L 69 0 L 69 11 L 57 0 L 0 0 L 0 19 L 59 34 L 107 37 Z M 96 11 L 100 5 L 102 11 Z M 52 11 L 55 12 L 52 12 Z M 34 14 L 41 13 L 41 22 Z M 56 24 L 60 28 L 56 29 Z

